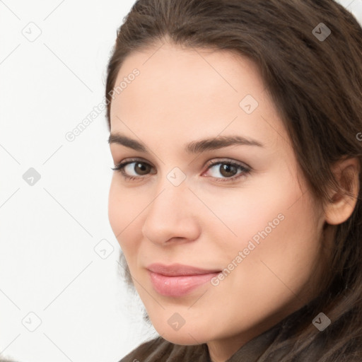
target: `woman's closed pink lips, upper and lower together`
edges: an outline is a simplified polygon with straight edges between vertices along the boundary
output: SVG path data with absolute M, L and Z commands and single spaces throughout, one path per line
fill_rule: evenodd
M 200 269 L 183 264 L 151 264 L 146 267 L 153 288 L 162 296 L 181 297 L 221 273 L 217 269 Z

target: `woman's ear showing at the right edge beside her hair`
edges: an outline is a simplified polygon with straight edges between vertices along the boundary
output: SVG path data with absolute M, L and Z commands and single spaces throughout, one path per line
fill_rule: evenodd
M 325 206 L 325 221 L 330 225 L 343 223 L 353 213 L 360 189 L 360 167 L 358 158 L 344 158 L 332 166 L 341 190 L 331 190 L 332 202 Z

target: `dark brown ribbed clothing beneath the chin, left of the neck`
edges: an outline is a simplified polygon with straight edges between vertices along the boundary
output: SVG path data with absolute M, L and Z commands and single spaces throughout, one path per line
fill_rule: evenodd
M 209 362 L 206 344 L 181 346 L 162 337 L 146 341 L 124 356 L 119 362 Z

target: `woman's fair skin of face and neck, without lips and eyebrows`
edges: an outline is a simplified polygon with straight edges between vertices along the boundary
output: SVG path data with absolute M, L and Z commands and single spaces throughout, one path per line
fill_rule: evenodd
M 138 180 L 114 172 L 110 225 L 157 332 L 175 344 L 206 343 L 212 361 L 223 362 L 316 295 L 323 252 L 332 239 L 327 228 L 323 249 L 323 225 L 349 218 L 355 200 L 339 199 L 325 211 L 315 202 L 250 60 L 165 42 L 127 57 L 116 84 L 134 68 L 140 75 L 112 101 L 111 133 L 136 139 L 148 151 L 116 143 L 110 151 L 115 165 L 138 158 L 150 166 L 146 173 L 136 163 L 127 167 Z M 239 105 L 248 94 L 259 103 L 250 115 Z M 264 146 L 184 150 L 192 141 L 230 135 Z M 207 161 L 219 158 L 251 171 L 236 179 L 243 171 L 228 177 L 220 163 L 207 170 Z M 344 161 L 338 170 L 350 166 L 357 168 L 356 160 Z M 167 178 L 175 167 L 186 176 L 177 187 Z M 222 270 L 279 214 L 284 220 L 218 286 L 208 282 L 181 298 L 153 289 L 148 264 Z M 185 320 L 177 331 L 168 324 L 174 313 Z

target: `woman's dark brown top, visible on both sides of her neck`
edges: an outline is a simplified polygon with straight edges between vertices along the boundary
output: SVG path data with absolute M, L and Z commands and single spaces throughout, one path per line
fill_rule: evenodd
M 266 332 L 251 339 L 231 356 L 226 362 L 256 362 L 279 332 L 280 325 L 271 327 Z M 206 344 L 181 346 L 157 337 L 146 341 L 119 362 L 211 362 Z

